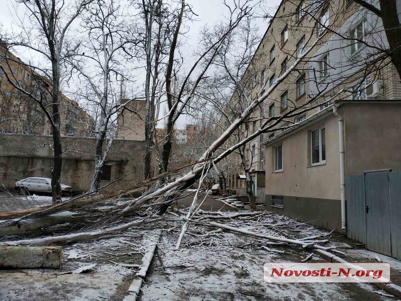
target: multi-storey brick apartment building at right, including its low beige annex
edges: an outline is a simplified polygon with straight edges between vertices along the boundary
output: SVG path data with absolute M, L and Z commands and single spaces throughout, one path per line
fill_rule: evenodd
M 269 91 L 255 127 L 272 127 L 247 149 L 265 170 L 267 210 L 346 231 L 348 176 L 401 170 L 400 79 L 378 59 L 387 47 L 381 20 L 354 2 L 280 4 L 244 75 L 250 97 Z

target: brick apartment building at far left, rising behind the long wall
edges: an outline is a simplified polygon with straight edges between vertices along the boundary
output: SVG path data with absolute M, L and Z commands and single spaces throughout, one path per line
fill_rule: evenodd
M 0 64 L 10 78 L 36 96 L 50 99 L 51 83 L 39 75 L 18 57 L 11 53 L 5 44 L 0 44 Z M 19 92 L 5 78 L 0 69 L 0 132 L 20 134 L 50 134 L 50 123 L 40 105 L 30 96 Z M 45 105 L 50 102 L 45 101 Z M 61 135 L 92 135 L 93 118 L 78 103 L 60 93 Z

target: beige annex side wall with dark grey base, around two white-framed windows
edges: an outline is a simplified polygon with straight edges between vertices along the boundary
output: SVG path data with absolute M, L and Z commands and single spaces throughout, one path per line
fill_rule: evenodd
M 310 164 L 310 131 L 325 127 L 326 163 Z M 283 144 L 283 172 L 274 172 L 274 147 Z M 266 147 L 266 209 L 311 224 L 341 229 L 338 121 L 332 114 Z M 272 207 L 272 195 L 284 208 Z

